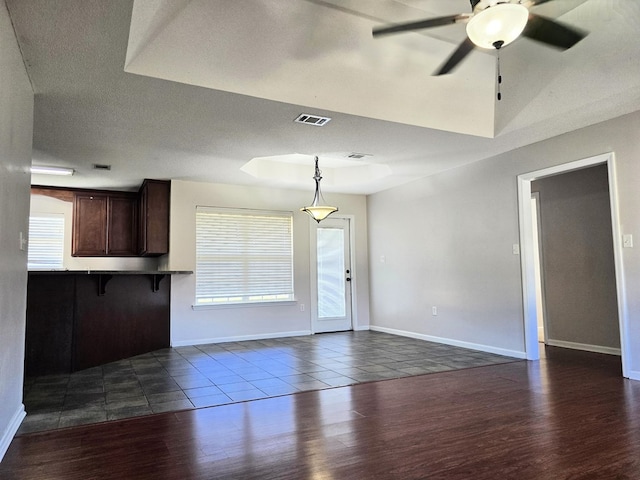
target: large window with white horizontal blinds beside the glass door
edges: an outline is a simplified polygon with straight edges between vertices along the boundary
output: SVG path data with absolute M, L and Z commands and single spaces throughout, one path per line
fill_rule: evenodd
M 196 306 L 291 301 L 291 212 L 196 207 Z

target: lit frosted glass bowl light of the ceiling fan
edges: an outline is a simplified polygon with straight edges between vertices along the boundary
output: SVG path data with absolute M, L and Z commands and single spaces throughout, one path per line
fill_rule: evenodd
M 516 3 L 498 3 L 476 13 L 467 23 L 469 39 L 480 48 L 509 45 L 523 32 L 529 10 Z

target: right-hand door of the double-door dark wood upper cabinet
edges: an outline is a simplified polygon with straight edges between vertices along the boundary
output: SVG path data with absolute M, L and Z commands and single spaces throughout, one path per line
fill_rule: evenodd
M 136 255 L 137 201 L 135 196 L 109 196 L 107 209 L 107 254 Z

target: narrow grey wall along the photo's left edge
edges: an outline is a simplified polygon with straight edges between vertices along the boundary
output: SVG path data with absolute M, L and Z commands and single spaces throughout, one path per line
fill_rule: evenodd
M 0 2 L 0 460 L 22 419 L 33 91 Z

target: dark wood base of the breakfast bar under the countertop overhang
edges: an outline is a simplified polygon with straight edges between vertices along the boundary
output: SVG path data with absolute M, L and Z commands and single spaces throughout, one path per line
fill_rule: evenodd
M 30 273 L 25 370 L 69 373 L 169 346 L 162 273 Z

